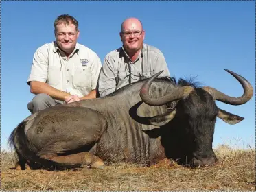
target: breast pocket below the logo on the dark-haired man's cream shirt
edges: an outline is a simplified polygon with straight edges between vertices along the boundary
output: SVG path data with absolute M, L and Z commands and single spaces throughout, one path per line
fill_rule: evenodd
M 75 69 L 73 85 L 79 87 L 91 87 L 91 69 L 87 66 Z

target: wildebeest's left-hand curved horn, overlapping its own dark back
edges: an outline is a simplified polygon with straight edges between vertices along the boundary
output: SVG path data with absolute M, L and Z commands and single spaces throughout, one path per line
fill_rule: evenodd
M 150 106 L 161 106 L 163 104 L 167 104 L 171 101 L 175 101 L 181 98 L 185 98 L 189 95 L 189 93 L 193 90 L 191 86 L 183 86 L 183 87 L 173 87 L 171 93 L 161 97 L 161 98 L 151 98 L 149 95 L 150 85 L 154 81 L 156 77 L 158 77 L 163 71 L 159 71 L 150 79 L 148 79 L 145 84 L 141 87 L 140 96 L 144 103 Z

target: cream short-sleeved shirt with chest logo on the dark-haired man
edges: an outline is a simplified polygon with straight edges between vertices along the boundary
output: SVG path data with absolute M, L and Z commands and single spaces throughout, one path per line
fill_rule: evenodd
M 83 97 L 96 88 L 100 68 L 100 58 L 84 45 L 77 43 L 67 58 L 56 42 L 47 43 L 34 53 L 27 84 L 46 82 L 58 90 Z

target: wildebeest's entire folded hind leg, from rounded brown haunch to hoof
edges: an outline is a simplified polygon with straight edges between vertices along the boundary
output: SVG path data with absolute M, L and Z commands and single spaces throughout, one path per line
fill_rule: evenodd
M 23 137 L 20 136 L 19 142 L 27 159 L 45 168 L 72 168 L 83 164 L 100 168 L 104 163 L 89 150 L 106 128 L 106 119 L 96 110 L 54 106 L 38 112 L 26 135 L 24 130 L 21 132 Z M 23 138 L 29 141 L 24 143 Z M 83 152 L 86 153 L 81 154 Z

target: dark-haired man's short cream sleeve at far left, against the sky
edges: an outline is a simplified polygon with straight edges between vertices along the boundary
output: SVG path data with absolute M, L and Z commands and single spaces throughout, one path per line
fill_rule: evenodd
M 46 82 L 48 75 L 48 53 L 47 48 L 39 47 L 34 53 L 30 77 L 27 84 L 31 81 Z

